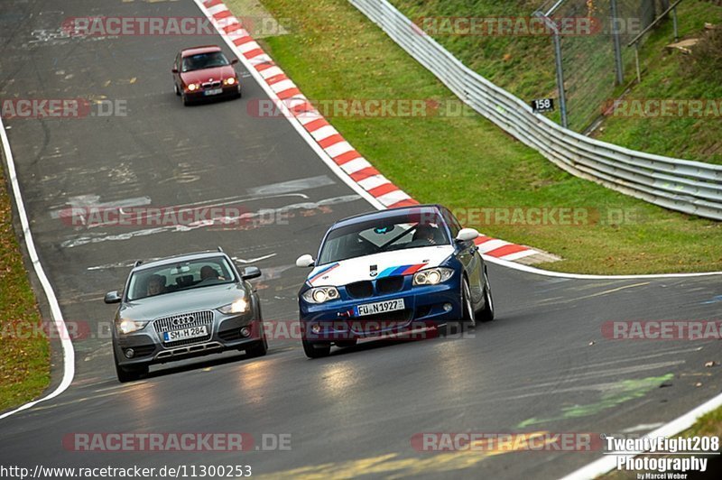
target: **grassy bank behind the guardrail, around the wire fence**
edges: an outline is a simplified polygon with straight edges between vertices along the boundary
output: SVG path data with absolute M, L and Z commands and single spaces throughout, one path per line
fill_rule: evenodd
M 533 0 L 391 0 L 391 3 L 412 19 L 424 16 L 529 16 L 541 5 L 541 2 Z M 572 5 L 572 2 L 568 4 Z M 581 2 L 578 0 L 577 4 Z M 563 16 L 563 13 L 560 15 Z M 717 24 L 718 28 L 722 25 L 722 6 L 704 0 L 682 2 L 678 15 L 681 39 L 699 37 L 704 32 L 705 23 Z M 673 42 L 673 37 L 671 21 L 663 21 L 648 36 L 640 50 L 642 83 L 633 85 L 625 97 L 722 98 L 722 81 L 719 81 L 722 70 L 717 70 L 716 76 L 702 78 L 688 69 L 689 56 L 665 49 Z M 525 100 L 557 97 L 554 54 L 549 38 L 451 35 L 435 35 L 434 38 L 468 67 L 517 97 Z M 586 129 L 601 113 L 603 102 L 622 94 L 636 77 L 634 50 L 627 48 L 625 43 L 622 47 L 625 86 L 615 89 L 612 88 L 614 69 L 608 37 L 595 35 L 562 39 L 570 128 L 577 131 Z M 559 121 L 559 112 L 552 118 Z M 722 117 L 718 116 L 615 117 L 607 119 L 595 136 L 604 142 L 634 150 L 722 164 Z

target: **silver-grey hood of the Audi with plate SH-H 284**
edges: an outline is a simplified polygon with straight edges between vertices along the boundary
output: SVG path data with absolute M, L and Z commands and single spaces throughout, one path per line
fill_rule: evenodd
M 244 287 L 238 283 L 212 285 L 129 301 L 118 313 L 121 317 L 134 320 L 153 320 L 180 313 L 218 309 L 243 296 L 248 299 Z

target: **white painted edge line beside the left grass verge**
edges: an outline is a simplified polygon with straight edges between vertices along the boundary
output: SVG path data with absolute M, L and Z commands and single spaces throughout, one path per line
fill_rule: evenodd
M 65 392 L 70 386 L 70 383 L 72 383 L 73 377 L 75 376 L 75 350 L 73 349 L 73 343 L 70 340 L 68 328 L 65 325 L 65 320 L 63 320 L 62 318 L 60 304 L 58 303 L 58 299 L 55 297 L 55 292 L 52 290 L 52 285 L 50 280 L 48 280 L 48 276 L 42 269 L 42 264 L 40 263 L 38 252 L 35 250 L 35 242 L 32 240 L 32 233 L 30 231 L 30 221 L 28 220 L 27 213 L 25 211 L 23 196 L 20 193 L 20 185 L 17 180 L 17 172 L 15 171 L 13 152 L 10 150 L 10 140 L 8 139 L 7 133 L 5 132 L 5 125 L 3 124 L 2 118 L 0 118 L 0 140 L 2 140 L 3 150 L 5 152 L 5 163 L 7 165 L 7 173 L 9 177 L 8 180 L 10 180 L 10 185 L 13 189 L 13 196 L 15 200 L 15 206 L 17 207 L 18 216 L 20 217 L 20 224 L 21 226 L 23 226 L 23 238 L 25 240 L 25 245 L 28 249 L 28 254 L 30 255 L 32 268 L 35 271 L 35 274 L 38 276 L 38 280 L 41 282 L 42 291 L 45 293 L 45 297 L 47 298 L 50 305 L 52 320 L 55 324 L 55 328 L 58 329 L 58 333 L 60 335 L 60 345 L 62 346 L 63 356 L 62 380 L 60 381 L 60 384 L 55 388 L 55 390 L 40 399 L 24 403 L 23 405 L 17 407 L 12 411 L 6 411 L 5 413 L 0 414 L 0 420 L 2 420 L 6 417 L 13 415 L 14 413 L 17 413 L 18 411 L 29 409 L 37 403 L 51 400 L 51 398 L 57 397 L 58 395 L 60 395 L 60 393 Z

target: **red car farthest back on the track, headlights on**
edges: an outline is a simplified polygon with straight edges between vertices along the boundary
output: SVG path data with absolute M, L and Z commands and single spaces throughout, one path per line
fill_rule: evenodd
M 173 88 L 183 98 L 183 105 L 218 98 L 241 97 L 241 84 L 233 65 L 218 45 L 182 50 L 173 63 Z

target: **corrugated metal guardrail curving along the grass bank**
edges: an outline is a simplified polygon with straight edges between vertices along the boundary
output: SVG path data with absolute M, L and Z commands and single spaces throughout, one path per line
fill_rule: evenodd
M 349 0 L 457 97 L 561 169 L 671 210 L 722 220 L 722 165 L 636 152 L 562 128 L 468 69 L 385 0 Z

